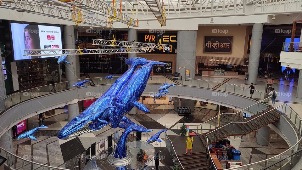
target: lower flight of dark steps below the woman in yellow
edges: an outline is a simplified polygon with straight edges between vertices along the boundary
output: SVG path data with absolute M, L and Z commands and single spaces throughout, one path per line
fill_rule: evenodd
M 206 152 L 177 155 L 182 167 L 187 170 L 208 169 Z

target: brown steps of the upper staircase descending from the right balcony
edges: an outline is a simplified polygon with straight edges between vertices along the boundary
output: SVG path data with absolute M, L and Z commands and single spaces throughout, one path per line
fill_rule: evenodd
M 268 113 L 266 113 L 268 112 Z M 266 113 L 262 115 L 263 113 Z M 260 116 L 261 115 L 261 116 Z M 259 116 L 259 117 L 257 117 Z M 271 110 L 271 108 L 267 108 L 255 114 L 247 119 L 242 119 L 242 123 L 230 123 L 226 126 L 220 125 L 213 129 L 210 129 L 208 132 L 199 135 L 204 146 L 207 146 L 207 137 L 210 143 L 215 143 L 219 140 L 225 139 L 228 136 L 244 136 L 247 135 L 254 130 L 260 129 L 263 126 L 267 126 L 272 122 L 276 122 L 279 120 L 281 116 L 281 112 L 278 110 Z M 257 118 L 255 118 L 257 117 Z M 255 119 L 254 119 L 255 118 Z M 253 120 L 252 120 L 253 119 Z M 251 120 L 251 121 L 250 121 Z M 249 122 L 248 122 L 249 121 Z M 225 123 L 227 124 L 227 123 Z M 219 129 L 218 129 L 219 128 Z M 218 130 L 216 130 L 218 129 Z M 216 130 L 216 131 L 214 131 Z M 214 132 L 212 132 L 214 131 Z M 212 132 L 212 133 L 210 133 Z

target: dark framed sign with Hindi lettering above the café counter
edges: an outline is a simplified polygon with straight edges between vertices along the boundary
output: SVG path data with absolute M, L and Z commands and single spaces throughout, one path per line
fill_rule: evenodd
M 204 36 L 204 53 L 232 53 L 233 37 Z

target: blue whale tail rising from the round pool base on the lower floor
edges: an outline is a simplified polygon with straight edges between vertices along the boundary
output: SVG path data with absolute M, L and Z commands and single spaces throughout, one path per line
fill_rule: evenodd
M 115 153 L 114 153 L 114 157 L 115 158 L 125 158 L 127 155 L 127 150 L 126 150 L 126 140 L 127 140 L 127 136 L 129 135 L 129 133 L 133 132 L 133 131 L 138 131 L 138 132 L 151 132 L 152 130 L 147 129 L 141 125 L 137 125 L 137 124 L 128 124 L 128 123 L 120 123 L 119 125 L 120 128 L 124 128 L 125 131 L 123 132 L 123 134 L 120 136 L 120 140 L 116 145 L 116 149 L 115 149 Z

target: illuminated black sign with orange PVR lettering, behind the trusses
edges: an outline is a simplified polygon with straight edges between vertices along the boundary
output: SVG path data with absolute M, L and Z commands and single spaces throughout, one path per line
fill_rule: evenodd
M 177 33 L 162 33 L 162 37 L 159 37 L 159 33 L 137 33 L 137 41 L 140 43 L 154 43 L 154 44 L 169 44 L 171 46 L 163 46 L 160 49 L 144 48 L 146 53 L 150 54 L 176 54 L 177 46 Z

